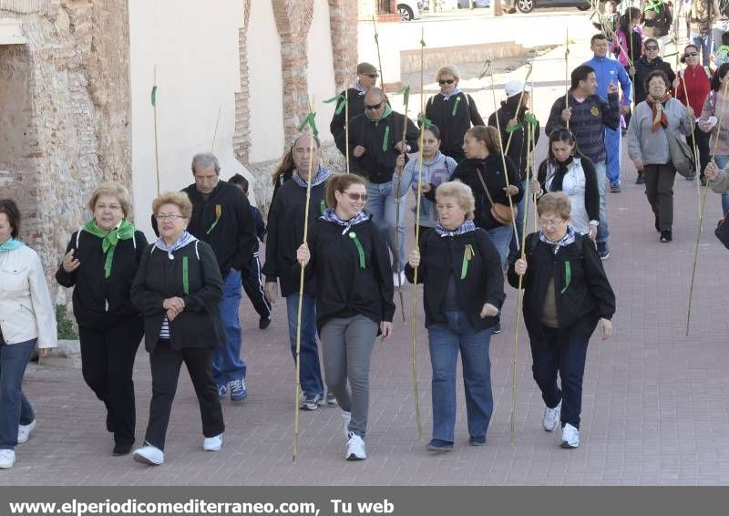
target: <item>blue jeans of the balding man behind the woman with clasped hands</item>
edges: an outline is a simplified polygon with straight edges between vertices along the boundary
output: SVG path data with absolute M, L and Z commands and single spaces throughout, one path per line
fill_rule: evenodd
M 245 362 L 241 358 L 243 333 L 238 320 L 241 296 L 241 273 L 231 269 L 223 279 L 220 304 L 225 343 L 216 348 L 212 358 L 212 379 L 219 386 L 245 378 Z

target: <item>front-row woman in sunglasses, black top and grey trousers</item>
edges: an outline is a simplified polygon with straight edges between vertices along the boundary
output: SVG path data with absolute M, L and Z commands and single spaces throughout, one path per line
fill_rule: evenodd
M 367 189 L 354 174 L 326 185 L 329 208 L 296 252 L 316 278 L 316 325 L 322 339 L 326 387 L 342 408 L 347 460 L 364 460 L 369 376 L 375 337 L 392 334 L 393 277 L 385 238 L 364 212 Z M 347 387 L 347 380 L 349 387 Z M 351 389 L 351 390 L 350 390 Z

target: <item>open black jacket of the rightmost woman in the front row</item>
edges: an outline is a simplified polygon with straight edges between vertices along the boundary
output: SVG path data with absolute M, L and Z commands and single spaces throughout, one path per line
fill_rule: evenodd
M 615 294 L 595 246 L 587 236 L 577 234 L 576 238 L 582 239 L 581 259 L 577 243 L 560 247 L 555 255 L 550 245 L 539 240 L 539 233 L 527 236 L 523 313 L 529 338 L 534 343 L 544 345 L 545 342 L 540 316 L 552 278 L 557 296 L 557 344 L 587 342 L 600 318 L 611 319 L 615 313 Z M 514 272 L 514 263 L 508 266 L 508 283 L 517 288 L 519 276 Z

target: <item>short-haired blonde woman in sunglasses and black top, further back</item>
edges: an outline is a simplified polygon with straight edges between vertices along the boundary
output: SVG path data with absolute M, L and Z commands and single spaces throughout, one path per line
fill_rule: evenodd
M 426 118 L 440 129 L 441 152 L 456 161 L 463 160 L 461 149 L 463 135 L 474 126 L 483 126 L 476 100 L 458 88 L 458 72 L 455 67 L 442 67 L 436 73 L 440 92 L 428 98 Z

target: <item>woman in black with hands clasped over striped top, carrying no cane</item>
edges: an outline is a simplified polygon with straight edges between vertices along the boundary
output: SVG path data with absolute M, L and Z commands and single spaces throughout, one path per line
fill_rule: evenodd
M 190 199 L 185 192 L 168 191 L 152 202 L 152 210 L 159 239 L 144 250 L 131 287 L 132 301 L 144 315 L 152 372 L 147 434 L 134 459 L 159 465 L 182 362 L 200 402 L 202 449 L 221 449 L 225 427 L 212 356 L 224 335 L 221 272 L 210 245 L 187 232 Z

